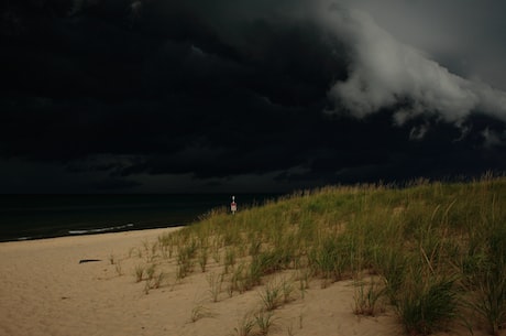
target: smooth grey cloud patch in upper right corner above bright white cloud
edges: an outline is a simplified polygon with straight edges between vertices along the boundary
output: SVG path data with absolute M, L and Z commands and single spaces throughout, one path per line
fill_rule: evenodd
M 339 0 L 465 78 L 506 89 L 505 1 Z

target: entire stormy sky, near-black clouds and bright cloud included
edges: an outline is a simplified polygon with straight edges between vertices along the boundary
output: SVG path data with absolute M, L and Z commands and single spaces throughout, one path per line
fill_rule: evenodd
M 7 0 L 0 193 L 506 170 L 506 2 Z

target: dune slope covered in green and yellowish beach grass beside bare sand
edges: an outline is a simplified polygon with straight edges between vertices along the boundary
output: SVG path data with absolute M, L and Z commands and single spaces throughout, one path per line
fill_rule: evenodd
M 158 249 L 177 259 L 179 278 L 212 258 L 231 293 L 285 270 L 301 292 L 311 279 L 323 288 L 353 279 L 355 313 L 374 315 L 386 302 L 407 334 L 506 326 L 504 177 L 324 187 L 235 215 L 218 209 L 160 237 Z

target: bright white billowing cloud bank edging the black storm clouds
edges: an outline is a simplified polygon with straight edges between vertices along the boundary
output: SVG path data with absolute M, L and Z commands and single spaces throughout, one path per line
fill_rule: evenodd
M 349 78 L 337 82 L 329 98 L 363 118 L 381 108 L 403 106 L 402 124 L 420 113 L 459 122 L 473 111 L 506 121 L 506 94 L 450 73 L 422 52 L 395 40 L 365 12 L 332 7 L 319 20 L 351 50 Z M 405 105 L 405 104 L 404 104 Z

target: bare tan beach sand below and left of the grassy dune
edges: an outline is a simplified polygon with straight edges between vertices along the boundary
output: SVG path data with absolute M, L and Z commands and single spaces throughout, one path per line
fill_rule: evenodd
M 148 258 L 140 251 L 175 229 L 0 243 L 0 335 L 239 335 L 244 316 L 262 306 L 263 288 L 229 296 L 223 284 L 213 302 L 207 279 L 221 267 L 212 258 L 206 272 L 196 267 L 179 281 L 173 258 L 158 289 L 135 281 L 135 268 Z M 84 259 L 100 261 L 79 263 Z M 265 281 L 289 274 L 276 277 Z M 350 281 L 322 289 L 315 280 L 304 295 L 296 288 L 293 301 L 273 311 L 268 335 L 404 334 L 389 310 L 375 317 L 354 315 L 353 295 Z

